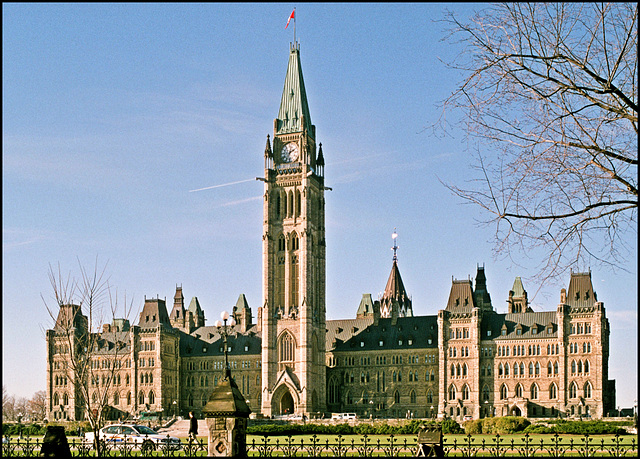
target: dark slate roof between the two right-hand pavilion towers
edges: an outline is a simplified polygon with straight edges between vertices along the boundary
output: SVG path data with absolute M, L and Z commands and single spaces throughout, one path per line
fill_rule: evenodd
M 516 332 L 517 325 L 522 327 L 522 334 Z M 547 333 L 547 326 L 553 325 L 553 333 Z M 507 326 L 506 336 L 501 335 L 502 326 Z M 534 335 L 532 328 L 537 325 L 538 332 Z M 487 331 L 491 330 L 491 336 Z M 543 312 L 519 312 L 513 314 L 487 314 L 482 318 L 482 340 L 499 339 L 531 339 L 531 338 L 557 338 L 558 316 L 555 311 Z

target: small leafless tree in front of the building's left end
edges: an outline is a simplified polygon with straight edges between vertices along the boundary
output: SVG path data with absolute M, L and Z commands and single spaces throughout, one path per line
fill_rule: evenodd
M 48 304 L 44 297 L 43 301 L 55 323 L 47 331 L 50 385 L 55 390 L 47 402 L 52 408 L 60 406 L 61 412 L 73 406 L 75 419 L 89 421 L 94 446 L 101 455 L 98 430 L 110 403 L 118 405 L 132 343 L 127 330 L 112 329 L 105 321 L 107 314 L 115 319 L 119 309 L 117 293 L 112 292 L 105 276 L 106 264 L 100 268 L 96 259 L 92 271 L 79 265 L 78 278 L 63 276 L 59 265 L 57 271 L 49 266 L 55 305 Z M 125 296 L 123 317 L 128 317 L 131 307 Z

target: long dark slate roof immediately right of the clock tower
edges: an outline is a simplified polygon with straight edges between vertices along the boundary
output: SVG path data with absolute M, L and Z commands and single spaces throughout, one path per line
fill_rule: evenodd
M 371 352 L 380 349 L 410 350 L 438 347 L 437 316 L 399 317 L 396 325 L 391 323 L 392 319 L 379 319 L 378 325 L 375 326 L 371 316 L 362 319 L 328 320 L 327 350 Z M 383 343 L 382 346 L 380 342 Z

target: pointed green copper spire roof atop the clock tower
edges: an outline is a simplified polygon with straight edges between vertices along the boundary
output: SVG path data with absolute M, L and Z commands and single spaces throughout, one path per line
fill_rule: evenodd
M 307 92 L 304 89 L 302 66 L 300 65 L 300 46 L 296 43 L 291 46 L 289 54 L 289 66 L 287 67 L 287 76 L 284 79 L 276 134 L 302 131 L 302 116 L 304 116 L 304 128 L 312 133 Z

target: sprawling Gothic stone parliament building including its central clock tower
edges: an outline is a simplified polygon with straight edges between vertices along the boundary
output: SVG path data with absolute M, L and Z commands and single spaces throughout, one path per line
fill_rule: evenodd
M 394 250 L 384 293 L 364 294 L 350 319 L 327 320 L 328 188 L 316 141 L 294 43 L 260 178 L 262 303 L 252 309 L 239 296 L 226 341 L 232 376 L 254 413 L 464 420 L 600 418 L 614 409 L 609 321 L 590 272 L 572 272 L 557 307 L 543 312 L 531 309 L 516 277 L 501 292 L 505 314 L 479 266 L 475 279 L 452 280 L 442 309 L 415 316 Z M 49 420 L 85 417 L 80 384 L 93 405 L 104 396 L 116 417 L 200 414 L 224 376 L 221 329 L 206 324 L 197 297 L 185 302 L 182 286 L 173 305 L 145 299 L 137 319 L 115 319 L 95 335 L 80 306 L 60 308 L 46 333 Z M 88 336 L 91 349 L 82 344 Z M 70 373 L 70 352 L 90 360 L 82 381 Z

